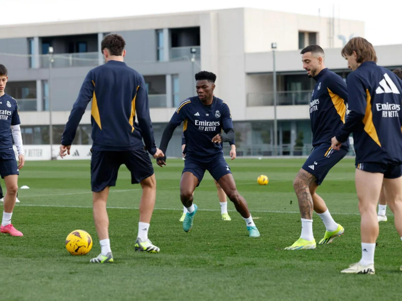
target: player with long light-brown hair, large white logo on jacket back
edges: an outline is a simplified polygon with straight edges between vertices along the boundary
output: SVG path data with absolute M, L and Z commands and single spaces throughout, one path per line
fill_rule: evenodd
M 377 66 L 374 47 L 366 39 L 351 39 L 342 56 L 353 70 L 347 79 L 349 115 L 332 138 L 332 148 L 338 150 L 353 132 L 362 254 L 359 262 L 342 273 L 373 275 L 379 232 L 376 207 L 383 184 L 402 240 L 402 81 Z

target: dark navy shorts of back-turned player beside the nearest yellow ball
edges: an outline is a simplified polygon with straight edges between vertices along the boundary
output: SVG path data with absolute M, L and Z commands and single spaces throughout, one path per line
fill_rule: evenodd
M 116 186 L 117 172 L 124 164 L 131 172 L 131 184 L 137 184 L 154 174 L 151 159 L 144 148 L 136 150 L 93 150 L 91 157 L 91 188 L 99 192 Z

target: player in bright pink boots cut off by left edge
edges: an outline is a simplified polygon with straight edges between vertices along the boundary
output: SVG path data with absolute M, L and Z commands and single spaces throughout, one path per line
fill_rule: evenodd
M 14 98 L 4 92 L 8 81 L 7 73 L 6 67 L 0 64 L 0 175 L 4 179 L 7 189 L 4 196 L 4 211 L 0 232 L 11 236 L 23 236 L 11 224 L 12 210 L 15 206 L 18 191 L 19 170 L 24 167 L 25 157 L 18 105 Z M 12 149 L 12 138 L 14 138 L 18 151 L 18 165 Z

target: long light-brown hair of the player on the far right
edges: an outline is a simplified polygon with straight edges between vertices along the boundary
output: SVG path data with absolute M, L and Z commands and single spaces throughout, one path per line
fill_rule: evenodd
M 375 61 L 377 63 L 377 55 L 373 45 L 362 37 L 354 37 L 346 43 L 343 47 L 341 54 L 343 57 L 345 55 L 352 55 L 353 51 L 356 51 L 356 62 L 363 63 L 367 61 Z

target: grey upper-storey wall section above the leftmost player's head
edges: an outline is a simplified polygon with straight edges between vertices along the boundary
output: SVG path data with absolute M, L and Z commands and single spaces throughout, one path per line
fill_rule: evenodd
M 28 54 L 28 39 L 0 39 L 0 53 L 11 53 L 14 55 L 0 54 L 0 63 L 9 70 L 29 68 L 29 58 L 15 56 L 17 54 Z

